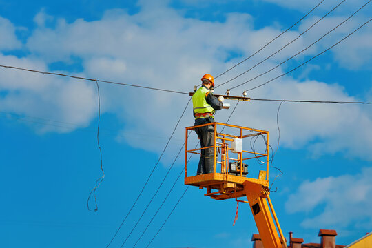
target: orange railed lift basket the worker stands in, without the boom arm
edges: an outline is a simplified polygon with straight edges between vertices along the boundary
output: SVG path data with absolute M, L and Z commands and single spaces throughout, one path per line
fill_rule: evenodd
M 196 127 L 214 125 L 214 169 L 213 173 L 196 174 L 196 167 L 193 165 L 192 172 L 187 170 L 187 160 L 189 154 L 201 154 L 202 149 L 189 149 L 189 134 Z M 223 133 L 225 128 L 229 133 Z M 251 138 L 262 136 L 265 142 L 264 152 L 256 152 L 254 146 L 247 147 Z M 246 144 L 243 146 L 243 144 Z M 243 149 L 244 147 L 244 149 Z M 251 163 L 254 159 L 262 159 L 263 165 L 257 165 L 256 175 L 252 175 Z M 193 175 L 192 175 L 193 174 Z M 267 187 L 269 185 L 269 132 L 264 130 L 256 130 L 249 127 L 240 127 L 237 125 L 229 125 L 225 123 L 208 123 L 192 127 L 186 127 L 186 143 L 185 143 L 185 185 L 197 186 L 200 189 L 206 188 L 206 196 L 210 196 L 216 200 L 225 200 L 229 198 L 238 198 L 245 196 L 243 183 L 250 181 Z

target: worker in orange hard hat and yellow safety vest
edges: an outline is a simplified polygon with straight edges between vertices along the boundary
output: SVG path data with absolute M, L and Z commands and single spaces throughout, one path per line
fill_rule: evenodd
M 202 86 L 192 96 L 193 114 L 195 117 L 194 125 L 214 123 L 214 113 L 223 107 L 223 96 L 218 99 L 211 92 L 214 88 L 214 78 L 210 74 L 205 74 L 202 79 Z M 214 145 L 214 125 L 196 127 L 196 134 L 200 139 L 200 147 Z M 197 175 L 214 172 L 214 148 L 201 149 Z

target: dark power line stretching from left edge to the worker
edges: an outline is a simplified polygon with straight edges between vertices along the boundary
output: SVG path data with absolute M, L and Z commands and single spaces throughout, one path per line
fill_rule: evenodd
M 69 75 L 69 74 L 61 74 L 61 73 L 55 73 L 55 72 L 43 72 L 43 71 L 40 71 L 40 70 L 19 68 L 19 67 L 15 67 L 15 66 L 11 66 L 11 65 L 0 65 L 0 67 L 10 68 L 10 69 L 15 69 L 15 70 L 24 70 L 24 71 L 27 71 L 27 72 L 37 72 L 37 73 L 46 74 L 46 75 L 66 76 L 66 77 L 69 77 L 69 78 L 72 78 L 72 79 L 82 79 L 82 80 L 87 80 L 87 81 L 99 81 L 101 83 L 111 83 L 111 84 L 115 84 L 115 85 L 123 85 L 123 86 L 129 86 L 129 87 L 139 87 L 139 88 L 143 88 L 143 89 L 147 89 L 147 90 L 158 90 L 158 91 L 172 92 L 172 93 L 178 93 L 178 94 L 189 94 L 189 93 L 186 93 L 186 92 L 179 92 L 179 91 L 176 91 L 176 90 L 165 90 L 165 89 L 161 89 L 161 88 L 147 87 L 147 86 L 142 86 L 142 85 L 134 85 L 134 84 L 130 84 L 130 83 L 118 83 L 118 82 L 114 82 L 114 81 L 105 81 L 105 80 L 101 80 L 101 79 L 90 79 L 90 78 L 83 77 L 83 76 L 72 76 L 72 75 Z

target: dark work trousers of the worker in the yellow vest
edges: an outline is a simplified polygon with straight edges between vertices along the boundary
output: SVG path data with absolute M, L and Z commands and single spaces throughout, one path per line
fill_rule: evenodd
M 213 118 L 203 118 L 205 120 L 197 119 L 195 122 L 195 125 L 201 125 L 205 123 L 211 123 L 214 122 Z M 198 137 L 200 138 L 200 147 L 209 147 L 211 145 L 214 145 L 214 125 L 208 125 L 205 127 L 196 127 L 195 128 L 196 134 L 198 134 Z M 214 148 L 207 148 L 207 149 L 201 149 L 201 155 L 198 165 L 198 171 L 196 172 L 197 175 L 200 174 L 207 174 L 207 173 L 213 173 L 213 154 L 214 154 Z

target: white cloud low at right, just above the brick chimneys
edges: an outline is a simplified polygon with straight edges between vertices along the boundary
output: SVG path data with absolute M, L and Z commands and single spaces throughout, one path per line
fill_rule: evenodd
M 355 175 L 317 178 L 304 181 L 286 203 L 289 213 L 311 213 L 303 227 L 372 227 L 372 168 L 363 168 Z M 312 213 L 322 207 L 320 214 Z M 309 215 L 309 214 L 308 214 Z

